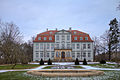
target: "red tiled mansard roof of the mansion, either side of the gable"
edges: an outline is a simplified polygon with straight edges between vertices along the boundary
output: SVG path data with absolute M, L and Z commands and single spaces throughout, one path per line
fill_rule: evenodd
M 93 42 L 93 40 L 90 38 L 89 34 L 78 31 L 78 30 L 67 30 L 68 32 L 71 32 L 72 42 Z M 46 32 L 42 32 L 40 34 L 37 34 L 37 37 L 33 42 L 55 42 L 55 33 L 58 32 L 57 30 L 49 30 Z M 76 32 L 76 33 L 74 33 Z M 41 40 L 38 40 L 38 38 L 41 37 Z M 47 39 L 44 40 L 44 37 Z M 52 40 L 49 40 L 49 37 L 52 38 Z M 74 38 L 77 37 L 77 40 L 74 40 Z M 80 40 L 80 37 L 83 37 L 83 40 Z M 88 37 L 88 40 L 85 40 L 85 37 Z

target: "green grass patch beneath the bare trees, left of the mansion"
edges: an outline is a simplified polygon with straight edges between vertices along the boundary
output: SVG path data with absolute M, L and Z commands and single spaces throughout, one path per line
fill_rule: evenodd
M 0 65 L 0 70 L 6 70 L 6 69 L 11 69 L 12 68 L 12 64 L 9 65 Z M 14 69 L 30 69 L 30 68 L 34 68 L 34 67 L 38 67 L 40 65 L 38 64 L 17 64 L 15 66 Z

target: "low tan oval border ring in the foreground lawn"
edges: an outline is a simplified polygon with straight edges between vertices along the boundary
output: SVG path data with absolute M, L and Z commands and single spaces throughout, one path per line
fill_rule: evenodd
M 80 73 L 79 73 L 80 72 Z M 32 70 L 27 71 L 28 74 L 45 77 L 88 77 L 104 74 L 103 71 L 97 70 L 65 70 L 65 69 L 50 69 L 50 70 Z

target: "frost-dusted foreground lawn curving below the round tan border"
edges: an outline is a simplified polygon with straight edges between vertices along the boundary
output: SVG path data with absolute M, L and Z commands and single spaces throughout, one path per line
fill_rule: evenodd
M 105 71 L 104 75 L 91 77 L 41 77 L 13 71 L 0 73 L 0 80 L 120 80 L 120 71 Z

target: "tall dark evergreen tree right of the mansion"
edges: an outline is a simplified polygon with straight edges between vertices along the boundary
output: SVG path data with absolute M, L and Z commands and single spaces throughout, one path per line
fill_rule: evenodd
M 118 28 L 118 21 L 113 19 L 110 21 L 110 29 L 109 29 L 109 43 L 108 43 L 108 53 L 109 53 L 109 60 L 111 60 L 111 52 L 117 52 L 118 43 L 119 43 L 119 28 Z

